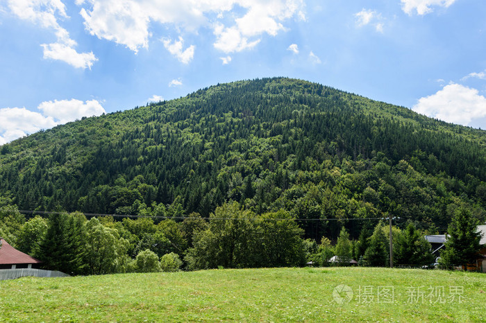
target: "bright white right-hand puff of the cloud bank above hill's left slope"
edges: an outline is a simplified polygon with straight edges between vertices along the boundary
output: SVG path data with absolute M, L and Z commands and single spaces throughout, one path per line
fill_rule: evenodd
M 37 109 L 42 111 L 44 116 L 50 116 L 58 123 L 67 123 L 83 116 L 99 116 L 105 110 L 97 100 L 80 101 L 76 99 L 61 101 L 42 102 Z

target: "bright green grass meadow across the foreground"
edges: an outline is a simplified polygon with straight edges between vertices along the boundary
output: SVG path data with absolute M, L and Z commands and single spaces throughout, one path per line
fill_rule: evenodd
M 19 320 L 486 322 L 486 274 L 279 268 L 0 281 L 0 321 Z

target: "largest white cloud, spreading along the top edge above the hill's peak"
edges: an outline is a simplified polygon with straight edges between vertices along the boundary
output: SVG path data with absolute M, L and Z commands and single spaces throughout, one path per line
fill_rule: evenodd
M 305 19 L 303 0 L 77 0 L 76 3 L 90 5 L 81 9 L 88 32 L 135 52 L 149 46 L 152 21 L 192 33 L 201 27 L 212 28 L 217 37 L 215 48 L 232 53 L 251 49 L 265 33 L 274 36 L 285 30 L 286 19 Z M 238 16 L 236 10 L 232 11 L 236 8 L 246 13 Z M 234 13 L 228 17 L 236 18 L 224 20 L 224 12 Z M 185 52 L 182 48 L 180 51 Z

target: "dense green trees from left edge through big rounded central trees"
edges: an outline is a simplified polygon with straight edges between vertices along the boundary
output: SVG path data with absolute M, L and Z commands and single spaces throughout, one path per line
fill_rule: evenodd
M 237 202 L 209 220 L 149 217 L 90 220 L 83 213 L 26 219 L 15 207 L 0 209 L 0 236 L 18 250 L 69 274 L 110 274 L 305 264 L 303 231 L 287 212 L 256 215 Z

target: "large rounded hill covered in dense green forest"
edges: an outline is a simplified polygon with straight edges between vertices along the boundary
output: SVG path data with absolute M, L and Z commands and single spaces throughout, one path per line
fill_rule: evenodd
M 248 80 L 1 146 L 0 195 L 21 210 L 165 216 L 236 200 L 443 231 L 461 205 L 485 220 L 485 143 L 482 130 L 323 85 Z

